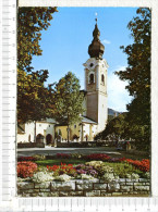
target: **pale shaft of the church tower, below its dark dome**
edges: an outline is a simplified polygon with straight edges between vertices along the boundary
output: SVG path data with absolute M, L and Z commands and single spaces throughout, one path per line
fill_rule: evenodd
M 108 120 L 107 70 L 105 59 L 90 58 L 84 63 L 87 91 L 86 115 L 98 123 L 97 133 L 105 129 Z

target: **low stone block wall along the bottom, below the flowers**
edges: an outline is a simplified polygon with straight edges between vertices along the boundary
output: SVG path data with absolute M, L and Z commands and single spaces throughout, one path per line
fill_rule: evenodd
M 124 179 L 106 183 L 102 179 L 70 182 L 17 183 L 20 197 L 110 197 L 149 195 L 149 179 Z

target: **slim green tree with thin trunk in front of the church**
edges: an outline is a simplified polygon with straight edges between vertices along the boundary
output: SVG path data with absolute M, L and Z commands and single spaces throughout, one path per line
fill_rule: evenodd
M 84 96 L 80 88 L 80 80 L 71 72 L 62 77 L 54 87 L 54 117 L 68 126 L 68 142 L 70 125 L 80 122 L 81 114 L 84 112 Z

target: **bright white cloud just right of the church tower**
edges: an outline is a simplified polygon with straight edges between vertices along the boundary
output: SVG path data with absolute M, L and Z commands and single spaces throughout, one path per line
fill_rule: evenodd
M 125 66 L 120 66 L 114 71 L 120 70 L 125 70 Z M 119 79 L 119 76 L 114 75 L 114 73 L 108 75 L 108 108 L 120 112 L 126 111 L 126 104 L 132 99 L 125 89 L 126 85 L 127 83 Z

